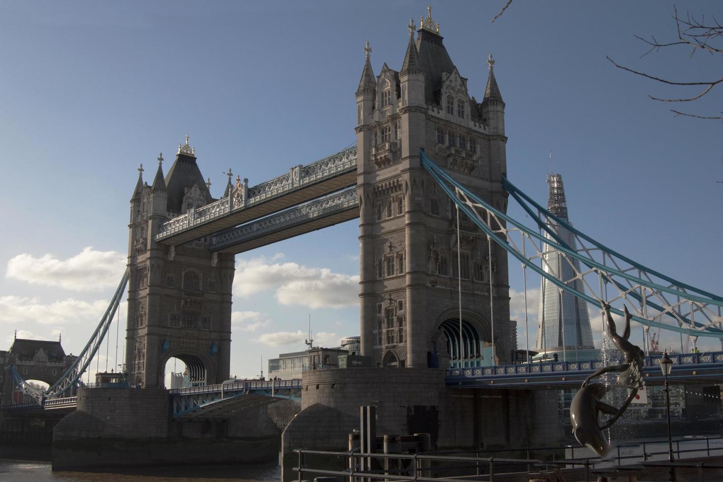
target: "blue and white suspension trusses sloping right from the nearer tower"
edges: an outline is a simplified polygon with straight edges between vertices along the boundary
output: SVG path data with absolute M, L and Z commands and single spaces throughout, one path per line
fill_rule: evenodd
M 611 305 L 625 302 L 630 306 L 633 320 L 646 327 L 659 327 L 692 337 L 723 338 L 722 297 L 662 275 L 609 249 L 591 236 L 576 230 L 565 220 L 552 215 L 504 178 L 505 189 L 536 224 L 534 228 L 523 225 L 490 206 L 478 194 L 456 181 L 430 160 L 424 150 L 421 157 L 424 168 L 459 210 L 484 231 L 488 239 L 500 244 L 523 266 L 529 266 L 560 290 L 595 306 L 601 306 L 603 302 Z M 560 228 L 575 236 L 578 249 L 571 249 L 562 241 L 557 233 Z M 544 236 L 542 231 L 548 236 Z M 575 275 L 570 280 L 562 282 L 547 264 L 543 256 L 544 245 L 557 251 L 564 260 L 562 262 L 567 262 L 572 267 Z M 529 248 L 531 254 L 527 252 Z M 580 270 L 574 267 L 573 259 L 580 262 Z M 586 290 L 578 291 L 573 288 L 575 280 L 581 280 Z M 609 290 L 612 293 L 608 293 Z M 612 306 L 611 311 L 623 314 L 617 306 Z

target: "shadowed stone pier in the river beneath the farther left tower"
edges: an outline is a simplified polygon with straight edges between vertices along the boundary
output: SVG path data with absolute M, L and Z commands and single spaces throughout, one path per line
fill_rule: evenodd
M 81 389 L 77 410 L 54 429 L 53 470 L 275 460 L 280 431 L 267 410 L 260 404 L 226 421 L 173 421 L 166 390 Z

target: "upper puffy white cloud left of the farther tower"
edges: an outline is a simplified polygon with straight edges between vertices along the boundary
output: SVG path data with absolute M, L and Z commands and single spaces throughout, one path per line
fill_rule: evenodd
M 68 259 L 57 259 L 52 254 L 39 258 L 27 253 L 18 254 L 7 262 L 5 276 L 35 285 L 99 291 L 117 285 L 125 268 L 123 254 L 96 251 L 88 246 Z

